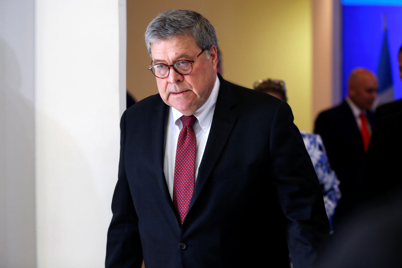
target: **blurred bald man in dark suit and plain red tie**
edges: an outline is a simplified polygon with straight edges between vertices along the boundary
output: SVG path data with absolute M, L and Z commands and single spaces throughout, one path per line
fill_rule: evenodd
M 368 148 L 378 83 L 375 75 L 363 68 L 354 69 L 348 80 L 348 97 L 339 105 L 319 114 L 314 132 L 320 134 L 331 167 L 338 175 L 342 198 L 335 211 L 336 231 L 348 219 L 358 201 L 358 178 Z M 338 226 L 337 226 L 338 225 Z

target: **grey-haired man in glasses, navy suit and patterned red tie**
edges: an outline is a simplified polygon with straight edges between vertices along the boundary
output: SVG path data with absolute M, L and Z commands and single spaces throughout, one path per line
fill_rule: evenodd
M 159 14 L 145 39 L 159 94 L 121 119 L 106 267 L 311 267 L 329 226 L 290 107 L 217 75 L 196 12 Z

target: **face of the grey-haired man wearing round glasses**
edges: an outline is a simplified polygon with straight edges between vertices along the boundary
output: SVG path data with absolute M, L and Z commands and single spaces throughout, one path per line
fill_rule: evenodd
M 191 34 L 155 41 L 151 44 L 152 64 L 173 64 L 178 60 L 193 60 L 201 48 Z M 210 97 L 217 73 L 217 49 L 210 48 L 210 56 L 204 53 L 192 63 L 189 74 L 179 74 L 172 67 L 166 78 L 156 77 L 159 94 L 169 106 L 185 116 L 192 115 Z

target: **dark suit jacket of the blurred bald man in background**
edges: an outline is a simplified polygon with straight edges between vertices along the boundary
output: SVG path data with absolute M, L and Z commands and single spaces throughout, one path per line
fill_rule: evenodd
M 373 113 L 367 111 L 373 128 Z M 364 161 L 364 146 L 356 119 L 346 101 L 319 114 L 314 132 L 320 134 L 328 160 L 340 181 L 342 198 L 334 214 L 334 229 L 347 218 L 359 200 L 359 183 Z

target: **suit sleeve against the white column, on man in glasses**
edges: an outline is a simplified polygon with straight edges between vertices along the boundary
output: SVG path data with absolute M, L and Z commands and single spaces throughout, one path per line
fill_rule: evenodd
M 125 171 L 126 112 L 120 130 L 119 175 L 112 200 L 113 217 L 108 231 L 106 268 L 141 267 L 142 248 L 138 232 L 138 218 L 131 197 Z

